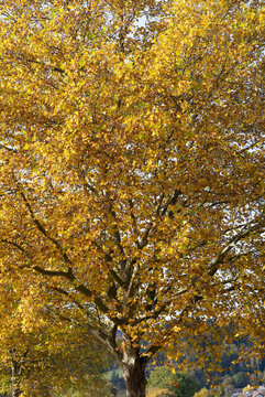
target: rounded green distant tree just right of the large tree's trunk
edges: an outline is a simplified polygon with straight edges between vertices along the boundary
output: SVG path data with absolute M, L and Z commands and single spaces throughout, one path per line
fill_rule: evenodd
M 174 374 L 167 367 L 156 367 L 151 373 L 148 386 L 172 390 L 177 397 L 192 397 L 200 389 L 200 385 L 189 374 Z

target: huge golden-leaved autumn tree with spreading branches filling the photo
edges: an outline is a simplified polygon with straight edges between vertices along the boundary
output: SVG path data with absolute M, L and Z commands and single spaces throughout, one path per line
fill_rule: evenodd
M 263 1 L 0 7 L 1 271 L 43 283 L 130 397 L 186 335 L 261 351 Z

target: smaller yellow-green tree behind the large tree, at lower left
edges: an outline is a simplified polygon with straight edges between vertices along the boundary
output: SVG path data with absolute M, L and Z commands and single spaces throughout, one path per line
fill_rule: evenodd
M 101 373 L 107 357 L 96 341 L 73 324 L 58 324 L 47 315 L 40 286 L 23 279 L 22 291 L 18 289 L 19 275 L 16 283 L 8 276 L 1 275 L 0 280 L 1 391 L 11 397 L 49 397 L 74 388 L 84 396 L 106 397 Z M 92 344 L 97 353 L 90 350 Z

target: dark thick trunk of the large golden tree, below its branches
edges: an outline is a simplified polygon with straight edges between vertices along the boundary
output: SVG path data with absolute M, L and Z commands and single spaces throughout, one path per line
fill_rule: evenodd
M 146 378 L 145 362 L 139 348 L 130 348 L 122 360 L 123 377 L 126 387 L 126 397 L 145 397 Z

